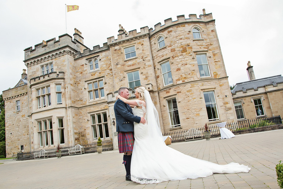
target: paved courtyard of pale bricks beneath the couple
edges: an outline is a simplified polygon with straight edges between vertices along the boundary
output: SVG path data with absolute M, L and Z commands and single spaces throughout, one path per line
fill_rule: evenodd
M 114 150 L 62 158 L 0 160 L 4 163 L 0 165 L 0 188 L 279 189 L 275 166 L 283 160 L 283 130 L 179 142 L 170 147 L 195 158 L 218 164 L 238 162 L 252 169 L 249 173 L 141 185 L 125 181 L 123 155 Z

